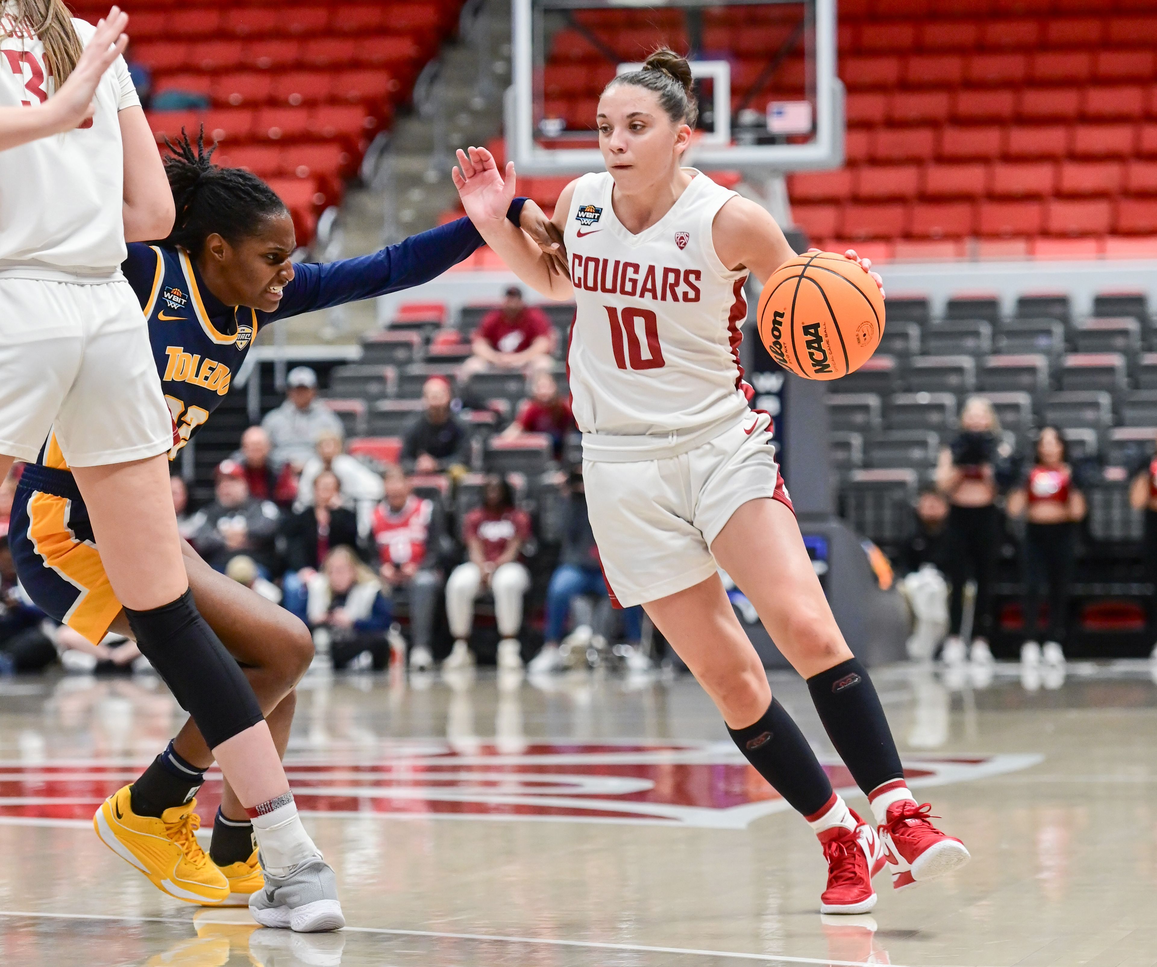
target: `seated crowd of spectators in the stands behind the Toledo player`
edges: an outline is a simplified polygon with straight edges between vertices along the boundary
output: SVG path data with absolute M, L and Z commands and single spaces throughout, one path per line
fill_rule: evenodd
M 213 568 L 305 621 L 318 654 L 336 669 L 382 669 L 403 649 L 415 670 L 432 667 L 435 658 L 447 669 L 466 669 L 477 660 L 480 604 L 500 637 L 495 651 L 493 643 L 485 647 L 484 634 L 482 650 L 494 654 L 501 669 L 521 669 L 541 640 L 529 629 L 528 615 L 535 628 L 545 625 L 533 672 L 565 666 L 568 632 L 582 658 L 592 637 L 614 637 L 616 617 L 605 606 L 581 470 L 567 473 L 561 463 L 575 427 L 548 371 L 552 346 L 550 323 L 511 290 L 502 308 L 484 318 L 476 354 L 464 364 L 473 371 L 517 369 L 528 377 L 529 398 L 500 433 L 551 438 L 559 482 L 541 486 L 558 490 L 562 536 L 545 551 L 550 541 L 540 539 L 533 508 L 519 504 L 525 484 L 516 490 L 507 477 L 489 474 L 479 505 L 456 501 L 472 463 L 472 435 L 449 381 L 426 383 L 398 463 L 383 466 L 346 451 L 341 421 L 318 398 L 317 375 L 308 367 L 289 371 L 285 401 L 245 429 L 238 449 L 218 465 L 208 502 L 192 508 L 186 481 L 174 473 L 182 536 Z M 415 474 L 421 493 L 414 490 Z M 14 479 L 0 484 L 0 529 L 14 487 Z M 536 581 L 538 595 L 528 612 Z M 575 608 L 568 627 L 573 599 L 583 596 L 590 605 Z M 622 621 L 628 650 L 639 648 L 639 614 L 629 610 Z M 23 596 L 3 540 L 0 674 L 43 667 L 58 657 L 86 672 L 147 667 L 131 641 L 110 635 L 94 647 L 46 619 Z M 635 655 L 633 666 L 640 663 L 646 659 Z

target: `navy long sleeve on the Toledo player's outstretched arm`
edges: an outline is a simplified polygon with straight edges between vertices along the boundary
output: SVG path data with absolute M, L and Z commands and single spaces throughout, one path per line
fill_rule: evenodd
M 525 199 L 515 199 L 507 213 L 515 224 L 524 202 Z M 264 322 L 420 286 L 436 279 L 481 245 L 482 236 L 470 219 L 458 219 L 369 256 L 295 265 L 296 274 L 285 288 L 280 308 L 265 315 Z

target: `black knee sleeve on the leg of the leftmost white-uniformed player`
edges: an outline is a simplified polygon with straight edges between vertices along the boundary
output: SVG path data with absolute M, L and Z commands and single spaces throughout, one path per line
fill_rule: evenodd
M 265 716 L 244 672 L 201 618 L 193 592 L 150 611 L 125 608 L 141 655 L 153 663 L 209 748 Z

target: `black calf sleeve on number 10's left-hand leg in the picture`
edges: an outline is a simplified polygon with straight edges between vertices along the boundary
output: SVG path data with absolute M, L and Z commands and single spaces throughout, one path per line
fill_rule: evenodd
M 813 815 L 827 805 L 832 798 L 827 773 L 779 700 L 772 699 L 764 717 L 754 725 L 728 728 L 728 732 L 756 772 L 794 810 L 803 815 Z

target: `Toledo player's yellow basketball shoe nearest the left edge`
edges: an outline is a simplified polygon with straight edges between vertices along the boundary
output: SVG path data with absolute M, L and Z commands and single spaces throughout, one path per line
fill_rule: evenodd
M 148 877 L 157 890 L 186 903 L 220 903 L 229 881 L 197 842 L 201 818 L 196 799 L 167 809 L 161 818 L 137 815 L 126 785 L 93 817 L 93 827 L 117 856 Z

